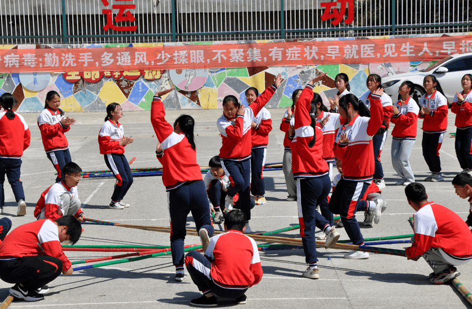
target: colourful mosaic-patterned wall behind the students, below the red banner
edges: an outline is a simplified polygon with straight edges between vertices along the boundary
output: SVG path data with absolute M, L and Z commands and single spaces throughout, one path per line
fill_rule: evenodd
M 240 43 L 261 43 L 261 42 L 214 42 L 213 44 L 240 44 Z M 186 43 L 172 43 L 186 45 Z M 153 44 L 159 46 L 161 44 Z M 135 44 L 136 47 L 151 46 Z M 64 48 L 65 46 L 0 46 L 2 49 L 27 49 L 27 48 Z M 75 46 L 77 48 L 77 46 Z M 89 46 L 87 46 L 89 47 Z M 93 47 L 101 47 L 94 45 Z M 103 47 L 123 47 L 123 45 L 103 45 Z M 292 104 L 292 92 L 297 88 L 303 88 L 306 83 L 313 78 L 315 72 L 327 72 L 327 77 L 321 86 L 315 87 L 315 91 L 320 93 L 325 104 L 328 105 L 328 97 L 333 97 L 337 89 L 334 85 L 334 78 L 338 73 L 346 73 L 349 76 L 351 92 L 356 96 L 367 91 L 365 81 L 371 73 L 387 77 L 393 74 L 406 73 L 427 68 L 431 62 L 404 62 L 404 63 L 371 63 L 371 64 L 339 64 L 339 65 L 318 65 L 305 67 L 257 67 L 257 68 L 237 68 L 237 69 L 210 69 L 199 74 L 195 81 L 199 79 L 202 86 L 193 91 L 179 89 L 175 85 L 182 87 L 184 82 L 175 81 L 171 76 L 180 74 L 184 78 L 182 70 L 174 72 L 161 71 L 158 79 L 148 80 L 144 73 L 139 77 L 125 78 L 120 74 L 118 79 L 103 76 L 98 82 L 87 82 L 81 78 L 77 82 L 71 83 L 66 80 L 64 74 L 51 73 L 42 77 L 42 82 L 47 86 L 41 91 L 28 90 L 21 81 L 25 81 L 25 76 L 21 74 L 0 74 L 0 94 L 5 92 L 13 93 L 19 101 L 20 106 L 17 111 L 40 112 L 44 109 L 46 93 L 55 90 L 61 94 L 61 108 L 66 112 L 96 112 L 105 111 L 106 106 L 112 102 L 121 104 L 125 111 L 150 110 L 152 96 L 158 89 L 176 87 L 175 91 L 164 99 L 166 109 L 219 109 L 226 95 L 234 95 L 241 98 L 247 104 L 244 92 L 249 87 L 256 87 L 260 92 L 270 86 L 275 77 L 281 73 L 284 81 L 276 94 L 272 97 L 266 107 L 284 108 Z M 177 72 L 175 72 L 177 71 Z M 180 72 L 178 72 L 180 71 Z M 185 71 L 185 70 L 184 70 Z M 188 70 L 187 70 L 188 71 Z M 200 70 L 203 71 L 203 70 Z M 158 72 L 158 71 L 157 71 Z M 25 73 L 22 73 L 25 75 Z M 33 73 L 31 73 L 33 75 Z M 126 74 L 124 74 L 126 75 Z M 188 74 L 187 74 L 188 76 Z M 203 76 L 203 78 L 201 77 Z M 28 78 L 28 76 L 27 76 Z M 31 80 L 31 77 L 30 77 Z M 175 83 L 172 83 L 172 80 Z M 31 84 L 31 83 L 30 83 Z M 175 85 L 174 85 L 175 84 Z M 186 86 L 182 87 L 185 88 Z M 187 87 L 188 88 L 188 87 Z M 188 90 L 191 90 L 188 88 Z

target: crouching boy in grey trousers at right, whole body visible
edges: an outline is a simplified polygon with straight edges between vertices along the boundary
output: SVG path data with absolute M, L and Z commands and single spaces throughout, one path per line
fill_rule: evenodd
M 412 182 L 405 188 L 408 204 L 416 210 L 413 215 L 414 236 L 406 257 L 417 261 L 421 256 L 433 272 L 429 283 L 441 284 L 457 277 L 455 266 L 472 259 L 472 233 L 467 224 L 452 210 L 428 202 L 424 186 Z

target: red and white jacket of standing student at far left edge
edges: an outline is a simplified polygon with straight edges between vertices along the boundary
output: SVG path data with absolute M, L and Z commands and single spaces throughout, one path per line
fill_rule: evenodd
M 23 116 L 15 113 L 8 119 L 6 111 L 0 113 L 0 158 L 21 158 L 30 146 L 30 129 Z

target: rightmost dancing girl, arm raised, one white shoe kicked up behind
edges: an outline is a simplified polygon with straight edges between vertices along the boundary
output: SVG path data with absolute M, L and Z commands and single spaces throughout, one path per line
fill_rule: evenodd
M 339 100 L 339 112 L 346 121 L 338 130 L 339 143 L 336 148 L 336 158 L 342 161 L 343 177 L 336 186 L 329 201 L 329 209 L 333 213 L 339 213 L 344 228 L 356 245 L 364 243 L 356 211 L 365 211 L 365 203 L 362 200 L 367 187 L 372 181 L 374 173 L 372 137 L 378 131 L 383 121 L 382 103 L 380 97 L 383 89 L 377 89 L 370 98 L 370 118 L 359 116 L 359 109 L 365 106 L 359 103 L 356 96 L 348 94 Z M 374 223 L 378 223 L 382 203 L 375 207 Z M 345 258 L 367 258 L 355 254 L 353 251 Z M 363 252 L 361 252 L 363 253 Z M 353 255 L 354 254 L 354 255 Z M 357 256 L 359 255 L 359 256 Z

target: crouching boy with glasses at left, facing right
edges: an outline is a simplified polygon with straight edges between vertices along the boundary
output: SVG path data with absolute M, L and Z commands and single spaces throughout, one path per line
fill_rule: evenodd
M 77 185 L 82 178 L 82 169 L 74 162 L 63 168 L 64 179 L 46 189 L 36 203 L 35 217 L 56 220 L 65 215 L 73 215 L 80 222 L 85 222 L 85 214 L 80 208 Z

